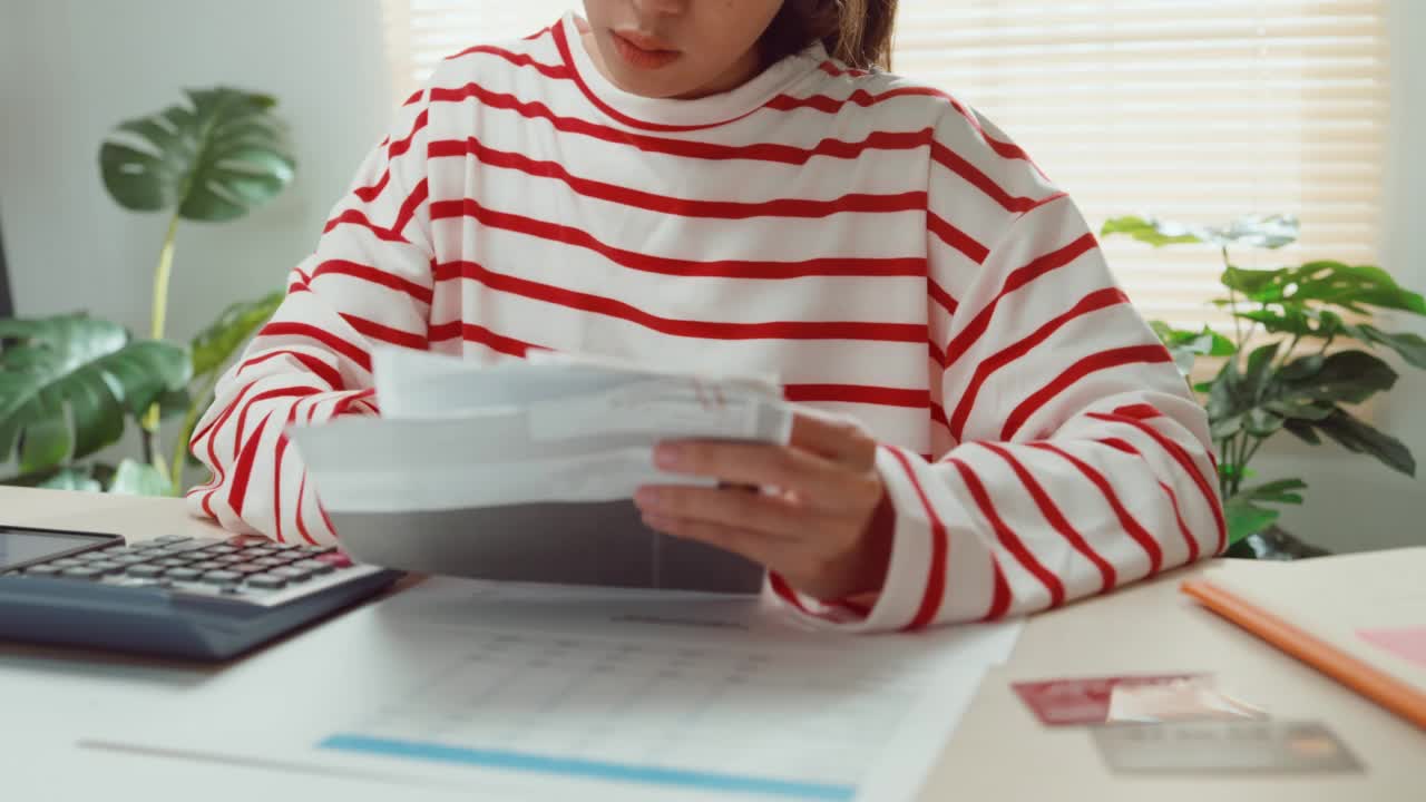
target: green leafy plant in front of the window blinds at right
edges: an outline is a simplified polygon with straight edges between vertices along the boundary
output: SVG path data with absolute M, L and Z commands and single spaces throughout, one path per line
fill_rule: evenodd
M 1302 504 L 1306 482 L 1289 477 L 1246 484 L 1253 478 L 1249 462 L 1282 432 L 1312 445 L 1328 440 L 1416 475 L 1412 452 L 1363 420 L 1360 404 L 1389 391 L 1397 378 L 1373 351 L 1395 351 L 1402 362 L 1426 368 L 1426 340 L 1379 328 L 1375 313 L 1426 315 L 1426 301 L 1375 265 L 1309 261 L 1243 270 L 1229 258 L 1229 248 L 1276 250 L 1295 243 L 1298 233 L 1298 220 L 1289 215 L 1242 218 L 1221 228 L 1119 217 L 1102 230 L 1154 247 L 1211 245 L 1222 257 L 1225 293 L 1212 303 L 1228 313 L 1231 333 L 1211 327 L 1184 331 L 1161 321 L 1152 325 L 1185 375 L 1201 357 L 1221 361 L 1214 378 L 1194 390 L 1202 397 L 1218 444 L 1218 484 L 1235 544 L 1229 554 L 1242 557 L 1289 558 L 1319 551 L 1303 548 L 1275 527 L 1281 511 L 1272 505 Z

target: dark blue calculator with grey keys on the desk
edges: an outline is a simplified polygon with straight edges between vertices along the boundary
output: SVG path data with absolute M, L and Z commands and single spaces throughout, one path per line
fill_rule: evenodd
M 337 547 L 0 525 L 0 639 L 218 661 L 388 588 Z

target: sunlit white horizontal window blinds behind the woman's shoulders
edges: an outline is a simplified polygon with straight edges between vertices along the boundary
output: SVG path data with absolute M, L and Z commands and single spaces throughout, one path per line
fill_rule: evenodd
M 519 37 L 576 0 L 386 0 L 404 98 L 446 54 Z M 896 71 L 981 108 L 1095 228 L 1148 213 L 1302 218 L 1243 267 L 1373 263 L 1387 116 L 1386 0 L 901 0 Z M 1108 240 L 1149 317 L 1226 323 L 1211 248 Z

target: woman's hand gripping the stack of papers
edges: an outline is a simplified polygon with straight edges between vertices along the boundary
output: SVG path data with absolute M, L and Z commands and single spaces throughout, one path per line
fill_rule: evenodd
M 659 468 L 723 485 L 649 485 L 635 502 L 653 529 L 742 554 L 816 598 L 846 598 L 880 591 L 891 557 L 888 527 L 873 525 L 886 494 L 876 454 L 861 427 L 797 414 L 790 445 L 660 444 Z

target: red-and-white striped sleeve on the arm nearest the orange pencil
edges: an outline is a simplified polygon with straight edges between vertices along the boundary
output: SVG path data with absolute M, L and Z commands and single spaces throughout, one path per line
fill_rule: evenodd
M 1205 412 L 1075 204 L 1031 173 L 1037 200 L 1005 203 L 1010 223 L 984 253 L 944 235 L 930 245 L 931 417 L 945 440 L 934 461 L 878 451 L 894 509 L 883 591 L 824 604 L 773 577 L 821 622 L 1022 615 L 1226 545 Z M 935 193 L 933 181 L 933 228 Z

